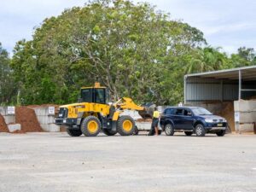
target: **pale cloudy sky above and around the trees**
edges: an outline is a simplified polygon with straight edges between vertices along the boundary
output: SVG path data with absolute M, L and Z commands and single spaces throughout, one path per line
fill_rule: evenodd
M 33 28 L 64 9 L 82 6 L 83 0 L 0 0 L 0 42 L 12 52 L 22 38 L 31 39 Z M 135 2 L 142 2 L 136 0 Z M 213 47 L 228 53 L 241 46 L 256 49 L 255 0 L 144 0 L 199 28 Z

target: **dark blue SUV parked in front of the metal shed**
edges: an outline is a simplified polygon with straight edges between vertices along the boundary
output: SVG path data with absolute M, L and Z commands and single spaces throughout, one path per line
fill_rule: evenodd
M 172 107 L 166 108 L 161 114 L 160 126 L 167 136 L 173 136 L 175 131 L 184 131 L 187 136 L 195 133 L 196 136 L 203 137 L 206 133 L 213 133 L 222 137 L 227 121 L 205 108 Z

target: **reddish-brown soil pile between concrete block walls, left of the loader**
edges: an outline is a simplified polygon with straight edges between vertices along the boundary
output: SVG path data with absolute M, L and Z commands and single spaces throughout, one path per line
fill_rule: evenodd
M 35 111 L 32 108 L 17 107 L 15 108 L 16 123 L 21 125 L 20 132 L 39 132 L 43 131 Z

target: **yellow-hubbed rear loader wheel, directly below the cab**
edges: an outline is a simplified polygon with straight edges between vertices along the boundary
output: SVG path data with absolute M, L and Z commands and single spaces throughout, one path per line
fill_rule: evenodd
M 81 131 L 86 137 L 96 137 L 101 131 L 101 121 L 95 116 L 86 117 L 81 124 Z

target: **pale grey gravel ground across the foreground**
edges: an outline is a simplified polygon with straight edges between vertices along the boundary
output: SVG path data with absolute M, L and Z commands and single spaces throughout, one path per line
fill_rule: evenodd
M 256 136 L 0 134 L 0 191 L 256 191 Z

